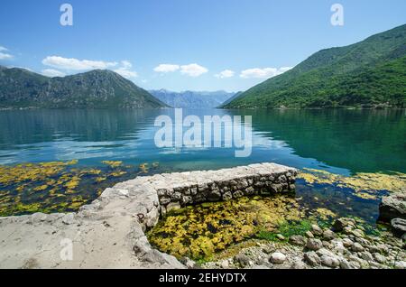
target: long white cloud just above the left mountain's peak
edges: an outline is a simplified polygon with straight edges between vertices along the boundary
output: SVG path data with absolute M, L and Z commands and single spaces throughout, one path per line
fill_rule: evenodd
M 107 69 L 115 67 L 117 62 L 108 62 L 103 60 L 78 60 L 74 58 L 63 58 L 60 56 L 48 56 L 42 60 L 42 64 L 56 69 Z

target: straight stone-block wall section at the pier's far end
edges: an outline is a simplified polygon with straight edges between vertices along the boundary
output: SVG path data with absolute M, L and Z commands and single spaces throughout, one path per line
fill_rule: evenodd
M 161 215 L 202 202 L 272 195 L 294 190 L 297 171 L 275 163 L 258 163 L 219 171 L 154 175 Z

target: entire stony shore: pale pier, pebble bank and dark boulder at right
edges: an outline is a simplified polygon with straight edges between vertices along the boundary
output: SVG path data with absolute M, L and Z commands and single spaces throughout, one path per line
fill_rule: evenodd
M 386 220 L 396 219 L 402 239 L 390 232 L 370 236 L 355 219 L 339 218 L 332 229 L 314 225 L 305 236 L 256 240 L 236 255 L 197 264 L 161 253 L 145 236 L 160 216 L 174 209 L 291 192 L 296 174 L 273 163 L 157 174 L 116 184 L 78 213 L 0 218 L 0 268 L 406 268 L 405 201 L 399 194 L 384 199 L 381 209 Z M 66 242 L 71 260 L 61 256 Z

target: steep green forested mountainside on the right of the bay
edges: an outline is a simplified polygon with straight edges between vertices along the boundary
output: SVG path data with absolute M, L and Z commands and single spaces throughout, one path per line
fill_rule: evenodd
M 406 24 L 318 51 L 223 107 L 406 107 Z

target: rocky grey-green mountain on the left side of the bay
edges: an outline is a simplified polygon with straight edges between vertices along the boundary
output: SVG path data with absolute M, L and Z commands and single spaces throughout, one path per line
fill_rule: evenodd
M 0 66 L 0 107 L 157 108 L 166 106 L 111 70 L 48 78 Z

